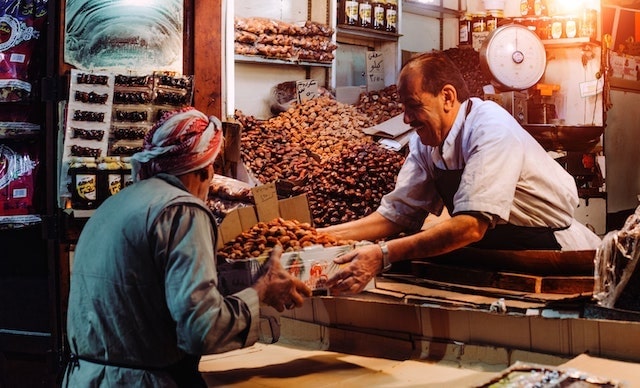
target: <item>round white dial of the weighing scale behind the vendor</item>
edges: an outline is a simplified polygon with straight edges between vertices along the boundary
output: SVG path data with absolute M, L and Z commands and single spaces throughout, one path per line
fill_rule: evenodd
M 492 31 L 480 48 L 480 66 L 503 89 L 529 89 L 547 66 L 544 44 L 533 31 L 508 24 Z

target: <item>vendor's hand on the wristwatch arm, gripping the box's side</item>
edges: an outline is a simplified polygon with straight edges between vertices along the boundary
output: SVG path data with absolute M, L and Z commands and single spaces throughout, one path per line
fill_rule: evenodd
M 331 295 L 357 294 L 382 269 L 382 251 L 377 244 L 365 245 L 338 256 L 333 261 L 349 265 L 327 281 Z

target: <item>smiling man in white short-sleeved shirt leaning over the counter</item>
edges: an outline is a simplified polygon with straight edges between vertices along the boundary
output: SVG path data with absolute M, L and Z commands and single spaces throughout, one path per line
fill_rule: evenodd
M 498 104 L 470 98 L 445 54 L 410 60 L 400 73 L 404 122 L 416 128 L 395 189 L 376 212 L 324 228 L 344 239 L 376 241 L 338 259 L 350 265 L 328 281 L 355 293 L 390 263 L 472 245 L 489 249 L 595 249 L 597 235 L 573 218 L 575 180 Z M 428 214 L 450 218 L 424 230 Z M 430 224 L 427 224 L 430 225 Z

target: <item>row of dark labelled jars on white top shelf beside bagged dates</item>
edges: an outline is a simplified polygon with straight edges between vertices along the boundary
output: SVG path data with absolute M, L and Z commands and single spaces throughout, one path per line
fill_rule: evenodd
M 338 24 L 396 33 L 398 0 L 338 0 Z

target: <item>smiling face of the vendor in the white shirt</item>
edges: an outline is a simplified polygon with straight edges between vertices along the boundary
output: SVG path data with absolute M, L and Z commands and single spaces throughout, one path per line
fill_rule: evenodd
M 404 122 L 416 128 L 424 145 L 439 146 L 449 132 L 446 123 L 442 92 L 434 96 L 423 91 L 422 74 L 405 69 L 400 75 L 400 102 L 404 105 Z

